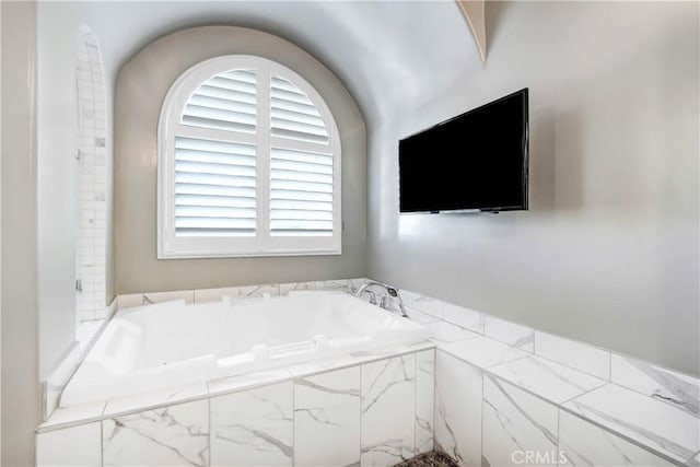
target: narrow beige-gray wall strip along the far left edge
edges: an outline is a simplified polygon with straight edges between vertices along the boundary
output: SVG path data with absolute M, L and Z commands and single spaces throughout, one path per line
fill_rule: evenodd
M 36 4 L 2 2 L 2 459 L 34 463 L 37 354 Z

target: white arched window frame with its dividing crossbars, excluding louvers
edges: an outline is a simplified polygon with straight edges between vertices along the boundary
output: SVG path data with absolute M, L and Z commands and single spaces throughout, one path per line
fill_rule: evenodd
M 234 69 L 256 70 L 257 112 L 255 133 L 215 130 L 180 124 L 191 94 L 213 75 Z M 304 92 L 320 114 L 328 144 L 289 140 L 270 132 L 270 83 L 279 75 Z M 244 142 L 256 147 L 256 234 L 252 237 L 178 237 L 175 235 L 175 138 Z M 272 148 L 332 154 L 332 235 L 270 235 L 270 152 Z M 260 256 L 314 256 L 342 253 L 341 148 L 330 108 L 299 73 L 267 58 L 228 55 L 201 61 L 180 74 L 168 90 L 158 127 L 158 258 L 228 258 Z

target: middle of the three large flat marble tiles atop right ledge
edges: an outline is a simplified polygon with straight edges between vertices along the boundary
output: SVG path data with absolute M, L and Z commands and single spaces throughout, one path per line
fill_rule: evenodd
M 555 404 L 561 404 L 607 382 L 539 357 L 526 357 L 488 370 Z

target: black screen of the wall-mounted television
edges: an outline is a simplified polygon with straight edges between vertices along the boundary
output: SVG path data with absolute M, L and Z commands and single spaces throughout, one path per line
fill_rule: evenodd
M 399 211 L 527 209 L 527 89 L 399 141 Z

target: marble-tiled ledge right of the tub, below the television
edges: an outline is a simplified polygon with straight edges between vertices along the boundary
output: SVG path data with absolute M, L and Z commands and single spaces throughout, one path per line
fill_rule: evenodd
M 697 378 L 401 293 L 443 337 L 470 331 L 434 338 L 435 447 L 460 465 L 697 465 Z

